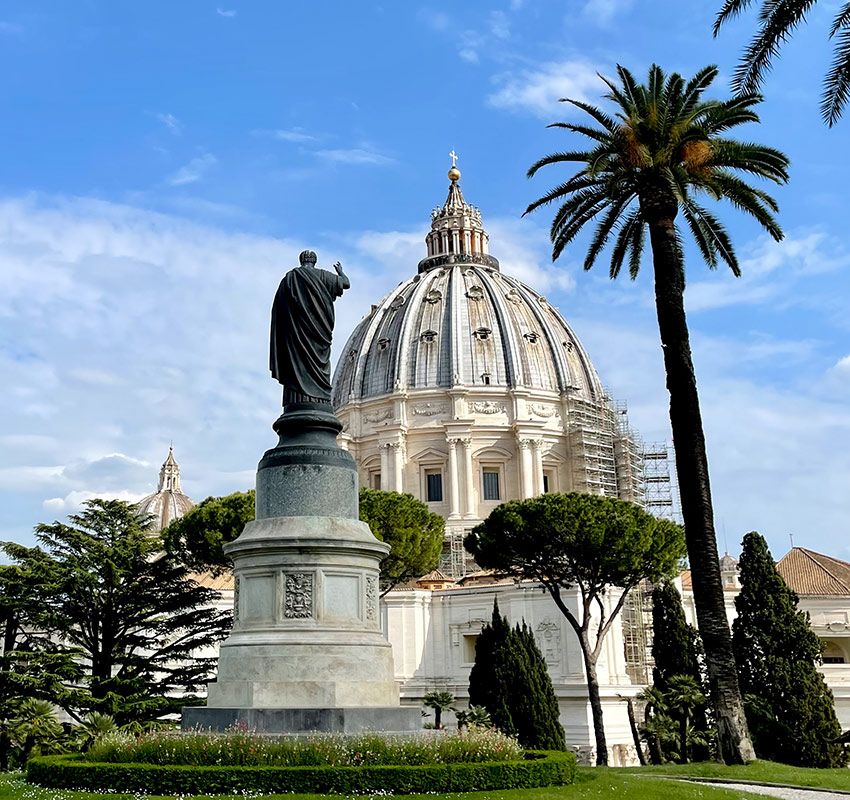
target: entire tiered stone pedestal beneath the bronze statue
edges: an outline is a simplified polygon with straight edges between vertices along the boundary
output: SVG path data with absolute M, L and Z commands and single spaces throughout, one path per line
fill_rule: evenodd
M 399 706 L 380 630 L 379 564 L 389 546 L 358 519 L 357 473 L 330 407 L 287 406 L 257 470 L 257 518 L 225 547 L 234 623 L 206 708 L 183 727 L 236 722 L 268 732 L 421 726 Z

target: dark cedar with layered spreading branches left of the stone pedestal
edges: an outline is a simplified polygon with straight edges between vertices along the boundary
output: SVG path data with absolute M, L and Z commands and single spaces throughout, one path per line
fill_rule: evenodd
M 91 500 L 67 524 L 36 526 L 39 547 L 3 544 L 22 569 L 43 570 L 21 621 L 80 658 L 84 674 L 67 688 L 88 699 L 56 698 L 78 718 L 96 710 L 123 724 L 176 712 L 184 692 L 211 678 L 214 659 L 194 653 L 230 627 L 229 612 L 214 608 L 217 593 L 162 553 L 148 523 L 127 503 Z

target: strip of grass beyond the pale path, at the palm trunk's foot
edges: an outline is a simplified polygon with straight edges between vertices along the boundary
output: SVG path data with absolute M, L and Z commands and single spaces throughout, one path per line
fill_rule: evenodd
M 840 789 L 850 792 L 850 769 L 813 769 L 777 764 L 774 761 L 753 761 L 746 766 L 727 767 L 713 761 L 699 764 L 665 764 L 660 767 L 633 767 L 629 773 L 641 775 L 688 775 L 696 778 L 784 783 L 789 786 L 808 786 L 818 789 Z

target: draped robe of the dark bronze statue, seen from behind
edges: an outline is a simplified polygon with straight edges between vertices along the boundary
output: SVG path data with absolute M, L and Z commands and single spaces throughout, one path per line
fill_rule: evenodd
M 329 403 L 334 300 L 343 279 L 315 267 L 283 276 L 272 305 L 269 367 L 283 384 L 283 403 Z

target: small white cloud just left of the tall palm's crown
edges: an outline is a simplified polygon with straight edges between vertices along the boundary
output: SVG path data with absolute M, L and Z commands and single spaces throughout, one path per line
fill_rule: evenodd
M 487 98 L 491 106 L 549 120 L 570 113 L 558 102 L 562 97 L 596 102 L 602 87 L 597 68 L 579 59 L 550 62 L 538 70 L 502 73 L 494 82 L 498 88 Z

